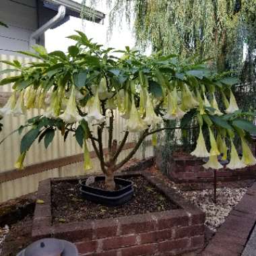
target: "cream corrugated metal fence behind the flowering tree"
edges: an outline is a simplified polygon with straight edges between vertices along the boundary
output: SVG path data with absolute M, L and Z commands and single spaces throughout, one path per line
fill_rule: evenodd
M 34 61 L 32 58 L 27 57 L 17 57 L 12 55 L 0 55 L 0 60 L 13 60 L 18 59 L 21 63 L 28 63 Z M 9 68 L 8 65 L 4 63 L 0 63 L 0 71 L 3 69 Z M 13 73 L 11 73 L 13 74 Z M 0 76 L 0 79 L 3 79 L 6 75 Z M 0 95 L 2 92 L 11 92 L 11 85 L 1 86 L 0 87 Z M 7 136 L 11 131 L 20 127 L 20 125 L 24 124 L 27 119 L 38 115 L 38 110 L 33 109 L 29 110 L 26 115 L 22 115 L 19 117 L 13 117 L 13 115 L 5 116 L 1 123 L 3 123 L 3 131 L 0 133 L 0 141 L 3 137 Z M 118 113 L 115 115 L 115 124 L 114 124 L 114 134 L 113 137 L 117 139 L 117 141 L 121 141 L 124 130 L 125 130 L 125 119 L 121 118 Z M 23 133 L 24 134 L 24 133 Z M 20 154 L 20 140 L 22 136 L 18 133 L 14 133 L 9 136 L 1 145 L 0 145 L 0 174 L 1 172 L 7 172 L 8 170 L 13 169 L 13 164 L 17 160 Z M 107 138 L 108 136 L 105 134 L 103 136 L 104 148 L 107 146 Z M 129 135 L 127 142 L 133 142 L 137 139 L 136 134 Z M 148 138 L 150 139 L 150 138 Z M 91 145 L 89 145 L 90 151 L 93 151 Z M 38 144 L 37 142 L 32 145 L 30 148 L 26 160 L 24 162 L 25 166 L 36 164 L 40 162 L 45 162 L 48 160 L 54 160 L 57 158 L 62 158 L 65 156 L 72 156 L 75 154 L 82 153 L 82 149 L 77 144 L 75 137 L 69 135 L 67 140 L 63 141 L 63 137 L 60 133 L 55 134 L 55 138 L 49 148 L 45 150 L 43 143 Z M 125 150 L 122 152 L 120 156 L 120 160 L 124 158 L 129 153 L 129 150 Z M 153 150 L 151 146 L 146 147 L 146 150 L 141 152 L 139 150 L 135 155 L 135 158 L 141 159 L 143 156 L 152 156 Z M 96 171 L 100 169 L 98 164 L 98 160 L 94 159 L 94 168 L 92 171 Z M 16 170 L 17 172 L 22 172 L 22 170 Z M 40 172 L 37 174 L 32 174 L 27 177 L 22 177 L 21 179 L 14 179 L 13 181 L 7 181 L 4 183 L 0 183 L 0 202 L 6 201 L 7 199 L 12 199 L 14 197 L 18 197 L 20 195 L 24 195 L 26 193 L 31 193 L 37 190 L 38 182 L 42 179 L 47 179 L 49 177 L 66 177 L 84 174 L 84 170 L 82 168 L 82 163 L 70 164 L 68 166 L 63 166 L 60 168 L 55 168 L 52 170 L 47 170 L 44 172 Z

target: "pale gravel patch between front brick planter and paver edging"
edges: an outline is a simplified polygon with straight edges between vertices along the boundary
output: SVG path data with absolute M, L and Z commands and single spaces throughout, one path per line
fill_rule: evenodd
M 201 191 L 178 191 L 186 200 L 197 205 L 205 212 L 205 225 L 216 232 L 218 227 L 225 221 L 234 206 L 247 192 L 247 187 L 217 189 L 217 203 L 213 201 L 213 189 Z

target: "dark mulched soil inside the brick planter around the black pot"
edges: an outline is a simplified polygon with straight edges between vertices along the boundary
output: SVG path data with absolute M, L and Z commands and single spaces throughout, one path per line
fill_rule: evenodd
M 84 200 L 77 183 L 55 182 L 52 185 L 53 223 L 77 222 L 90 219 L 117 218 L 177 209 L 178 206 L 142 176 L 125 177 L 134 183 L 134 196 L 128 203 L 105 206 Z

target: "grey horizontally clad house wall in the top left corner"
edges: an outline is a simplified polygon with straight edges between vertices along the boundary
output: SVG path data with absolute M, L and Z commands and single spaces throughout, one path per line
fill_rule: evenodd
M 36 0 L 1 0 L 0 54 L 28 51 L 30 34 L 38 27 Z

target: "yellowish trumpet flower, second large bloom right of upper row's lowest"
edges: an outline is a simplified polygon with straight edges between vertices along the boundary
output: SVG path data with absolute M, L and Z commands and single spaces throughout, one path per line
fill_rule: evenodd
M 177 88 L 175 87 L 172 92 L 168 92 L 168 106 L 166 114 L 163 117 L 164 119 L 174 120 L 183 118 L 186 113 L 178 106 L 178 102 L 179 97 L 177 94 Z

